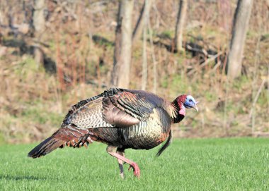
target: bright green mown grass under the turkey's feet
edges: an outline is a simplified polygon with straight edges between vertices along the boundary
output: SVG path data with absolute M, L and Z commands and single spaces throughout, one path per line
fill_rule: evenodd
M 127 150 L 141 178 L 116 159 L 105 144 L 57 149 L 30 159 L 35 144 L 0 147 L 0 190 L 269 190 L 269 140 L 226 138 L 174 140 L 162 156 L 157 149 Z

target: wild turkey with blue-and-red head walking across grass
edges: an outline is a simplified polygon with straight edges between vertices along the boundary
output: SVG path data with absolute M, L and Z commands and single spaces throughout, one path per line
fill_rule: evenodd
M 150 92 L 113 88 L 71 107 L 61 128 L 41 142 L 28 156 L 38 158 L 54 149 L 87 146 L 93 141 L 108 144 L 107 152 L 118 159 L 123 178 L 123 163 L 130 164 L 139 177 L 137 164 L 125 158 L 125 149 L 152 149 L 167 141 L 159 156 L 171 142 L 171 123 L 185 116 L 185 108 L 198 102 L 190 95 L 181 95 L 169 103 Z

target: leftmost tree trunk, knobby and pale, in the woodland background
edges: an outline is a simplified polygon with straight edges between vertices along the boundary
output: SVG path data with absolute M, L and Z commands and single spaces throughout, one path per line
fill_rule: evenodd
M 40 67 L 44 63 L 44 57 L 42 50 L 40 48 L 40 38 L 42 32 L 45 30 L 45 0 L 35 0 L 34 4 L 34 13 L 33 13 L 33 27 L 34 27 L 34 36 L 36 40 L 35 49 L 34 49 L 34 57 L 35 62 Z

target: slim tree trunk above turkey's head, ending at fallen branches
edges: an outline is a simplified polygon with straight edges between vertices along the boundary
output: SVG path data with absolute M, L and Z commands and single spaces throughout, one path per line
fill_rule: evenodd
M 176 49 L 182 49 L 183 42 L 183 27 L 185 24 L 185 18 L 188 8 L 188 0 L 180 0 L 178 8 L 178 18 L 176 20 L 176 34 L 173 45 Z M 172 46 L 173 47 L 173 46 Z

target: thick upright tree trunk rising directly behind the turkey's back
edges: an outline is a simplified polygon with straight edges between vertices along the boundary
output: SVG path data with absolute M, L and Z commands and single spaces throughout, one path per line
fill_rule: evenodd
M 121 0 L 118 11 L 118 25 L 114 50 L 111 85 L 128 88 L 132 56 L 132 9 L 134 0 Z

